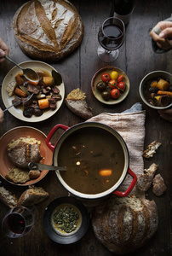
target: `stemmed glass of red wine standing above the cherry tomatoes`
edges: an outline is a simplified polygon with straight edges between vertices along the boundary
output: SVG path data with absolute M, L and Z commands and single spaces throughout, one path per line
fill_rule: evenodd
M 122 20 L 114 17 L 106 19 L 98 33 L 100 46 L 97 54 L 101 61 L 112 62 L 118 58 L 119 47 L 123 44 L 125 26 Z

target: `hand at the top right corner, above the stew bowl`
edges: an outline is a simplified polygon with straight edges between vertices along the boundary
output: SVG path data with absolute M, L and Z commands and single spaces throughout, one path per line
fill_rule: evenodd
M 155 28 L 160 28 L 162 32 L 156 34 L 154 32 Z M 169 39 L 169 42 L 172 44 L 172 21 L 160 21 L 156 26 L 152 28 L 150 36 L 157 43 L 159 48 L 162 49 L 171 49 L 171 45 L 165 40 Z

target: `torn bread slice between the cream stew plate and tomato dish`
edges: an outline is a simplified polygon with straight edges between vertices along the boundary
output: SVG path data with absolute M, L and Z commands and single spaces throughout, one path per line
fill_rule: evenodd
M 93 117 L 91 108 L 89 108 L 86 102 L 85 93 L 79 88 L 72 90 L 66 97 L 66 106 L 73 113 L 83 119 L 89 119 Z

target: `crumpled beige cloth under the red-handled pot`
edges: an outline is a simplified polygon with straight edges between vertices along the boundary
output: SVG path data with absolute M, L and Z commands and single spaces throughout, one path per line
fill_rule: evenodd
M 144 171 L 142 154 L 145 141 L 145 117 L 145 111 L 137 113 L 100 113 L 87 120 L 108 125 L 118 131 L 129 149 L 129 167 L 137 177 Z M 128 174 L 118 190 L 125 191 L 131 181 L 132 177 Z M 136 188 L 130 194 L 134 193 L 139 193 Z

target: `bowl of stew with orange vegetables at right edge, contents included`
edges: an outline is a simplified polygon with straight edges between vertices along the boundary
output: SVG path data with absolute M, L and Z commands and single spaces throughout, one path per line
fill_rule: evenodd
M 146 106 L 164 109 L 172 106 L 172 74 L 165 71 L 148 73 L 140 81 L 140 98 Z

